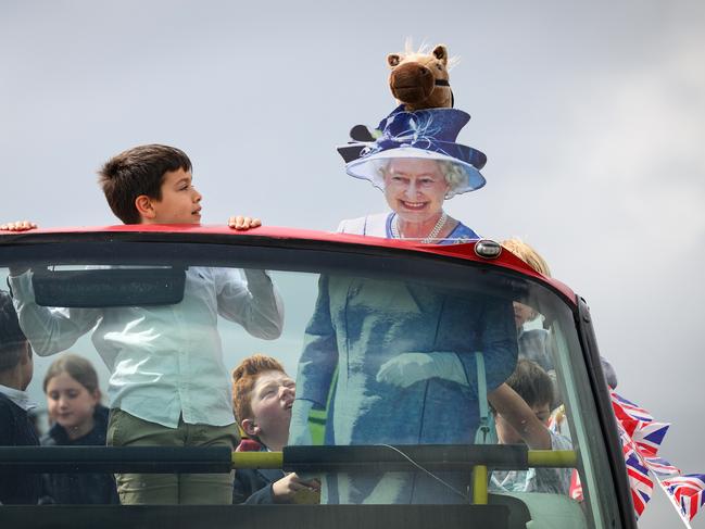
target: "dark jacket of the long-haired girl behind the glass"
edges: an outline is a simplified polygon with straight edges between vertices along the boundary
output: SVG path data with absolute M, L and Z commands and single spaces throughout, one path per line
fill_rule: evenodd
M 104 446 L 108 431 L 108 408 L 96 406 L 93 429 L 79 439 L 71 440 L 66 430 L 55 424 L 41 439 L 45 446 Z M 46 474 L 46 493 L 55 503 L 117 504 L 117 489 L 112 474 Z

